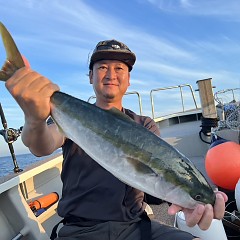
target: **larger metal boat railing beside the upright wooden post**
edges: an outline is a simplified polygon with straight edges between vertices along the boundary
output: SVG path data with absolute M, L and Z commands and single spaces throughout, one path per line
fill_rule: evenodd
M 185 111 L 186 111 L 185 102 L 184 102 L 183 88 L 189 88 L 189 90 L 190 90 L 190 92 L 191 92 L 191 95 L 192 95 L 192 99 L 193 99 L 195 108 L 198 109 L 197 102 L 196 102 L 196 98 L 195 98 L 195 95 L 194 95 L 194 91 L 193 91 L 193 88 L 192 88 L 192 86 L 191 86 L 190 84 L 182 84 L 182 85 L 177 85 L 177 86 L 170 86 L 170 87 L 163 87 L 163 88 L 155 88 L 155 89 L 152 89 L 152 90 L 150 91 L 150 100 L 151 100 L 151 109 L 152 109 L 152 117 L 153 117 L 153 119 L 156 119 L 157 117 L 159 117 L 159 116 L 156 116 L 156 114 L 155 114 L 154 93 L 160 92 L 160 91 L 166 91 L 166 90 L 170 90 L 170 89 L 177 89 L 177 88 L 178 88 L 179 91 L 180 91 L 180 99 L 181 99 L 182 112 L 185 112 Z

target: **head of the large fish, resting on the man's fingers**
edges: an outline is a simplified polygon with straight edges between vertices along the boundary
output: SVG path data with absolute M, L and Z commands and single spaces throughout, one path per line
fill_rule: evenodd
M 187 157 L 174 149 L 165 157 L 169 160 L 162 161 L 159 172 L 162 179 L 156 187 L 159 195 L 162 191 L 161 195 L 166 196 L 164 200 L 190 209 L 199 203 L 214 205 L 215 193 L 212 187 Z

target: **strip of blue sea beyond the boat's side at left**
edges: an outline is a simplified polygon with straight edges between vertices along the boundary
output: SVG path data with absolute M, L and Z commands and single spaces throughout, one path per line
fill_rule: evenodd
M 51 155 L 55 155 L 59 152 L 61 152 L 60 149 L 58 149 L 56 152 L 54 152 Z M 47 157 L 50 157 L 51 155 Z M 31 153 L 27 153 L 27 154 L 16 155 L 16 160 L 17 160 L 18 167 L 24 170 L 27 166 L 37 161 L 43 160 L 47 157 L 36 157 Z M 11 156 L 0 157 L 0 177 L 13 173 L 13 169 L 14 169 L 14 164 Z

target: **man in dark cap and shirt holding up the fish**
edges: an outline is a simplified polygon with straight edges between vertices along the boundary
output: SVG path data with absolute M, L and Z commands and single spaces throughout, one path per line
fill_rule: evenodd
M 89 64 L 95 104 L 102 109 L 115 107 L 159 135 L 152 119 L 138 116 L 122 106 L 135 60 L 135 54 L 121 42 L 107 40 L 97 44 Z M 63 190 L 58 214 L 65 219 L 65 225 L 59 231 L 59 240 L 140 240 L 147 231 L 151 236 L 145 239 L 197 239 L 154 221 L 150 226 L 144 214 L 143 192 L 119 181 L 66 139 L 54 123 L 47 124 L 51 112 L 50 97 L 59 90 L 56 84 L 25 67 L 6 82 L 6 87 L 24 111 L 22 140 L 31 152 L 43 156 L 59 147 L 63 149 Z M 227 197 L 220 192 L 216 196 L 214 207 L 199 204 L 190 210 L 171 205 L 169 214 L 183 210 L 189 226 L 198 224 L 201 229 L 207 229 L 213 218 L 221 219 L 224 214 Z

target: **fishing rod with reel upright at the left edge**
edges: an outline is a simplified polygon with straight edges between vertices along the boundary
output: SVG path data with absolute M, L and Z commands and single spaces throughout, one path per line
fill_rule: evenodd
M 0 116 L 1 116 L 1 121 L 2 121 L 2 125 L 3 125 L 3 129 L 0 130 L 0 135 L 3 136 L 4 140 L 8 144 L 8 148 L 10 150 L 12 160 L 13 160 L 13 165 L 14 165 L 13 171 L 15 173 L 19 173 L 23 170 L 20 169 L 18 166 L 16 155 L 15 155 L 14 148 L 13 148 L 13 142 L 15 142 L 18 139 L 18 137 L 20 136 L 20 134 L 22 132 L 22 127 L 20 127 L 19 129 L 8 128 L 7 120 L 5 118 L 1 103 L 0 103 Z

